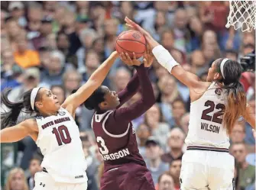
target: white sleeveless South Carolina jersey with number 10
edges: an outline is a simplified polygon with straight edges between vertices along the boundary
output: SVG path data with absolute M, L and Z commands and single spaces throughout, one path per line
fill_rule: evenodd
M 56 182 L 86 182 L 86 159 L 79 129 L 73 117 L 64 108 L 57 116 L 37 117 L 39 134 L 37 147 L 44 160 L 41 164 Z

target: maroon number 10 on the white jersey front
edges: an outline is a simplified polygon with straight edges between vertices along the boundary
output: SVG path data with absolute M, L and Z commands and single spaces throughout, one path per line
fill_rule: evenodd
M 54 127 L 52 133 L 55 134 L 59 146 L 71 142 L 70 132 L 65 125 Z

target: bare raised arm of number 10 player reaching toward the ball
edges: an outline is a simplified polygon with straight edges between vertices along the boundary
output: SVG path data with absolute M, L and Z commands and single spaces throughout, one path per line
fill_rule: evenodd
M 70 114 L 72 114 L 74 117 L 76 108 L 83 104 L 83 102 L 86 101 L 90 95 L 92 95 L 92 92 L 99 88 L 117 58 L 118 53 L 114 51 L 109 56 L 109 58 L 105 60 L 105 62 L 103 62 L 95 72 L 92 73 L 92 76 L 89 77 L 89 80 L 84 85 L 82 85 L 76 91 L 76 93 L 67 97 L 61 106 L 66 108 L 66 110 L 69 111 Z

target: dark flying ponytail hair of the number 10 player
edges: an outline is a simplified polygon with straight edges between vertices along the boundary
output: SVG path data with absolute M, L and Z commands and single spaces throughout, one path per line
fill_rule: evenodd
M 11 127 L 15 124 L 17 124 L 18 115 L 21 113 L 21 110 L 25 108 L 25 110 L 22 110 L 25 113 L 38 113 L 37 108 L 34 107 L 34 110 L 31 107 L 31 92 L 32 89 L 24 92 L 23 100 L 18 102 L 11 102 L 8 100 L 8 94 L 11 92 L 11 89 L 5 89 L 2 94 L 2 103 L 8 108 L 8 111 L 5 111 L 1 113 L 1 128 L 5 127 Z M 38 101 L 40 98 L 40 95 L 37 93 L 35 101 Z

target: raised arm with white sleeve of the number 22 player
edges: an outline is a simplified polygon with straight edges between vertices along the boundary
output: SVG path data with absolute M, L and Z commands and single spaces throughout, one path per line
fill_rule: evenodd
M 180 82 L 189 88 L 197 88 L 201 85 L 199 77 L 184 70 L 183 67 L 173 59 L 173 56 L 171 56 L 170 53 L 160 45 L 160 43 L 151 37 L 151 34 L 129 18 L 126 17 L 125 21 L 128 27 L 139 31 L 144 35 L 147 40 L 147 44 L 151 47 L 152 53 L 157 59 L 157 62 L 160 63 L 161 66 L 164 66 L 164 68 L 167 69 L 175 78 L 180 80 Z

